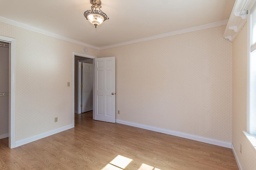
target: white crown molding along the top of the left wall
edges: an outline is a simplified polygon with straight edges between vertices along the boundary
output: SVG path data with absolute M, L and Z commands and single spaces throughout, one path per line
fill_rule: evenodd
M 54 34 L 52 32 L 48 32 L 48 31 L 45 31 L 45 30 L 41 30 L 39 28 L 35 28 L 35 27 L 32 27 L 32 26 L 29 26 L 29 25 L 26 25 L 26 24 L 22 24 L 20 22 L 16 22 L 16 21 L 13 21 L 13 20 L 10 20 L 10 19 L 7 19 L 7 18 L 3 18 L 0 16 L 0 22 L 4 22 L 6 24 L 10 24 L 10 25 L 13 25 L 13 26 L 17 26 L 17 27 L 20 27 L 20 28 L 24 28 L 26 30 L 30 30 L 30 31 L 33 31 L 33 32 L 38 32 L 40 34 L 44 34 L 46 36 L 51 36 L 51 37 L 54 37 L 54 38 L 58 38 L 60 40 L 64 40 L 64 41 L 67 41 L 67 42 L 72 42 L 72 43 L 76 43 L 76 44 L 79 44 L 79 45 L 83 45 L 85 47 L 89 47 L 89 48 L 93 48 L 93 49 L 98 49 L 99 50 L 99 47 L 96 47 L 94 45 L 90 45 L 90 44 L 87 44 L 87 43 L 83 43 L 83 42 L 79 42 L 77 40 L 73 40 L 71 38 L 67 38 L 67 37 L 64 37 L 64 36 L 60 36 L 58 34 Z

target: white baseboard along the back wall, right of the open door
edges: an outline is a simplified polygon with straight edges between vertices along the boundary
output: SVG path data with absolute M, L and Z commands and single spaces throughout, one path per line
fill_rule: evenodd
M 173 135 L 173 136 L 178 136 L 178 137 L 182 137 L 182 138 L 196 140 L 196 141 L 204 142 L 204 143 L 208 143 L 208 144 L 214 144 L 214 145 L 222 146 L 222 147 L 225 147 L 225 148 L 231 148 L 231 144 L 232 144 L 231 142 L 225 142 L 225 141 L 221 141 L 221 140 L 205 138 L 205 137 L 196 136 L 196 135 L 193 135 L 193 134 L 176 132 L 176 131 L 167 130 L 167 129 L 163 129 L 163 128 L 151 127 L 151 126 L 142 125 L 142 124 L 138 124 L 138 123 L 121 121 L 121 120 L 118 120 L 118 119 L 116 119 L 116 123 L 129 125 L 129 126 L 132 126 L 132 127 L 143 128 L 143 129 L 147 129 L 147 130 L 152 130 L 152 131 L 160 132 L 160 133 L 164 133 L 164 134 L 170 134 L 170 135 Z

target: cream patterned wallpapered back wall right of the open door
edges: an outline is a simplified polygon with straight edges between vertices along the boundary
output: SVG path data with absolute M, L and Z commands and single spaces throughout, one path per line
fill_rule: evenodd
M 232 141 L 232 43 L 219 26 L 100 50 L 116 57 L 117 119 Z

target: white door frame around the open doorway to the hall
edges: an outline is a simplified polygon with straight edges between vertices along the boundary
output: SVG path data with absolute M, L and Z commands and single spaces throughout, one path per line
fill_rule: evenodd
M 95 59 L 97 57 L 95 56 L 92 56 L 92 55 L 87 55 L 87 54 L 82 54 L 82 53 L 77 53 L 77 52 L 74 52 L 73 51 L 73 54 L 72 54 L 72 94 L 73 94 L 73 97 L 72 97 L 72 123 L 73 123 L 73 127 L 75 126 L 75 64 L 78 64 L 78 63 L 75 63 L 75 55 L 76 56 L 79 56 L 79 57 L 85 57 L 85 58 L 91 58 L 91 59 Z M 94 60 L 93 60 L 93 65 L 94 65 Z M 79 71 L 79 67 L 78 67 L 78 71 Z M 94 79 L 92 81 L 93 83 L 93 86 L 94 86 Z M 79 85 L 78 85 L 78 89 L 79 89 Z M 93 96 L 94 96 L 94 91 L 92 92 L 93 93 Z M 79 97 L 79 94 L 77 95 Z M 80 95 L 81 97 L 81 95 Z M 93 106 L 92 106 L 93 110 L 94 110 L 94 100 L 93 100 Z M 94 111 L 92 111 L 92 117 L 94 119 Z

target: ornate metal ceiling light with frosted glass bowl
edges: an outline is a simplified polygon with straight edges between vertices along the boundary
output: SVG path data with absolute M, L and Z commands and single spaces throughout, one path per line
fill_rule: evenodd
M 84 17 L 86 18 L 86 20 L 92 23 L 95 28 L 97 28 L 98 25 L 102 24 L 102 22 L 108 20 L 109 18 L 104 12 L 102 12 L 102 10 L 100 10 L 100 0 L 90 0 L 90 3 L 92 4 L 92 9 L 84 12 Z M 99 8 L 99 10 L 96 10 L 97 8 Z

